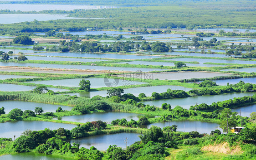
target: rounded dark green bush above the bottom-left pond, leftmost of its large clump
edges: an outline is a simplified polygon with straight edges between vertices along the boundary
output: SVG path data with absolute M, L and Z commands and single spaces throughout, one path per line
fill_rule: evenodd
M 36 148 L 35 141 L 28 136 L 20 136 L 13 143 L 15 152 L 28 152 Z

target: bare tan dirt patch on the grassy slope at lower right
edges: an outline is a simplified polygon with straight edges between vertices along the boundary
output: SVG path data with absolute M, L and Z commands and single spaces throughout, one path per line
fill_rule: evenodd
M 218 145 L 205 145 L 202 148 L 202 150 L 224 153 L 224 154 L 231 154 L 231 155 L 243 153 L 243 151 L 241 151 L 241 147 L 238 145 L 231 150 L 227 142 L 218 144 Z

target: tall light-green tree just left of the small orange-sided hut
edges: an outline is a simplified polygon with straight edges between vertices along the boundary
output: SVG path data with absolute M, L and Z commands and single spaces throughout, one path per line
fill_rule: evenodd
M 236 126 L 236 114 L 237 112 L 232 112 L 230 108 L 224 108 L 222 110 L 220 114 L 220 126 L 223 128 L 224 131 L 228 132 L 229 128 Z

